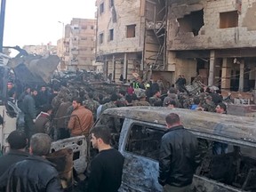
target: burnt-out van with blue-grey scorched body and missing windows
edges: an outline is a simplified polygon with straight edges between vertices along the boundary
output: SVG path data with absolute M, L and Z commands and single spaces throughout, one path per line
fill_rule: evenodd
M 107 124 L 112 145 L 124 155 L 120 191 L 163 191 L 158 184 L 158 156 L 165 116 L 177 113 L 193 132 L 203 161 L 191 191 L 256 191 L 256 120 L 180 108 L 109 108 L 96 124 Z M 212 142 L 228 144 L 228 153 L 212 155 Z

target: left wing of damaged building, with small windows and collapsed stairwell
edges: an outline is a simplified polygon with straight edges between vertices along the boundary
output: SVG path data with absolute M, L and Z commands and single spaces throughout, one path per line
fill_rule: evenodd
M 132 80 L 134 73 L 147 78 L 164 69 L 163 1 L 96 0 L 96 6 L 96 61 L 106 76 Z

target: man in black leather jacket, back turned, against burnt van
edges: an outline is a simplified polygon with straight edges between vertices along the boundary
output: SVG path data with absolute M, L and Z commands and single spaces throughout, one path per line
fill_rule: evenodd
M 161 140 L 158 182 L 164 192 L 187 192 L 201 162 L 196 137 L 180 123 L 180 116 L 165 117 L 168 131 Z

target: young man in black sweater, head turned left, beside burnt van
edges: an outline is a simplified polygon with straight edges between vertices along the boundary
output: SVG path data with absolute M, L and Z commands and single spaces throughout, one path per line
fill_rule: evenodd
M 88 191 L 117 192 L 122 182 L 124 156 L 110 147 L 111 135 L 108 127 L 95 126 L 91 134 L 92 147 L 99 149 L 99 154 L 92 159 Z

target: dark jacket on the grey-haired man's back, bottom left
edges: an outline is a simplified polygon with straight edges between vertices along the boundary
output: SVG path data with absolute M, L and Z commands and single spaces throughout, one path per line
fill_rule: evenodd
M 58 172 L 53 164 L 40 156 L 29 156 L 9 171 L 8 192 L 62 191 Z

